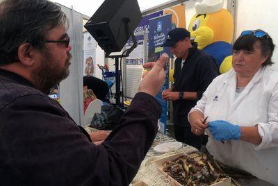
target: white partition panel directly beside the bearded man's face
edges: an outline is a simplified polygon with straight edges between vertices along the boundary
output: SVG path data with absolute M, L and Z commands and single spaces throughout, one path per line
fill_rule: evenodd
M 72 44 L 70 75 L 60 83 L 60 101 L 72 119 L 81 125 L 83 123 L 83 15 L 65 6 L 59 6 L 69 19 L 70 28 L 67 33 L 70 35 L 70 44 Z

